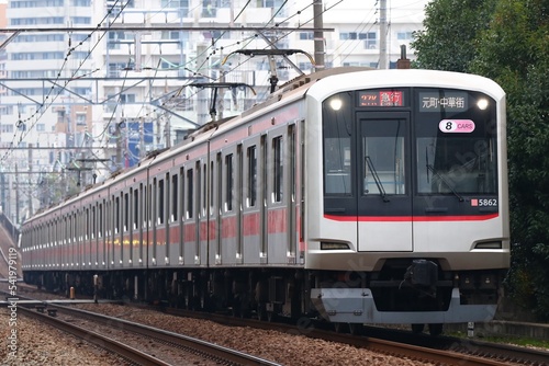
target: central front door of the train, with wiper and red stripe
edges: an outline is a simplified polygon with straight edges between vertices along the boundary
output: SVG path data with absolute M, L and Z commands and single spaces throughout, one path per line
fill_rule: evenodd
M 361 112 L 357 121 L 358 250 L 412 251 L 410 113 Z

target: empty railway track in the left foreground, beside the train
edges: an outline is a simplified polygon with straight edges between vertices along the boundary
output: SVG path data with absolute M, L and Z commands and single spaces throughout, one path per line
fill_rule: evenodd
M 115 353 L 130 364 L 279 365 L 213 343 L 65 306 L 48 305 L 45 309 L 23 309 L 26 316 Z

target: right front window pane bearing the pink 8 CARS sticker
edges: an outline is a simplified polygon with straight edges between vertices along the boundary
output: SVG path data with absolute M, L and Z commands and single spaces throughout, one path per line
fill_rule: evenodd
M 419 194 L 495 194 L 495 102 L 473 92 L 416 90 Z

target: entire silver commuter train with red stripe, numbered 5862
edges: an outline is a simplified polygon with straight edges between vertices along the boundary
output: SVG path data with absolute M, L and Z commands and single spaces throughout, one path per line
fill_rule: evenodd
M 479 76 L 306 75 L 29 219 L 24 279 L 352 330 L 490 320 L 509 266 L 505 126 Z

